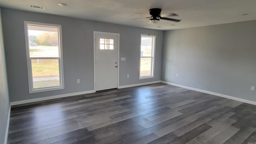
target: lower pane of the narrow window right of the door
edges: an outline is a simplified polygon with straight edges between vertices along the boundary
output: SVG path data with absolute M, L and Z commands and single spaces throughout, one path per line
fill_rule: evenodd
M 151 58 L 140 58 L 140 77 L 151 76 Z

